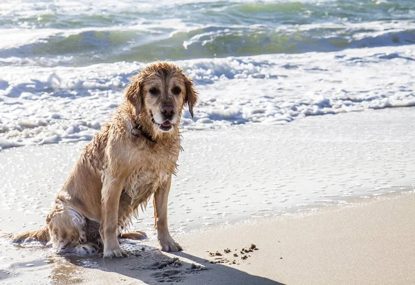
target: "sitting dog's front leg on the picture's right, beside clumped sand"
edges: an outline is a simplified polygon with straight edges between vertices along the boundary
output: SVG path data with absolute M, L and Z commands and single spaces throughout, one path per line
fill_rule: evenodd
M 154 193 L 154 218 L 156 219 L 157 239 L 163 251 L 179 251 L 183 248 L 170 236 L 167 224 L 167 202 L 170 186 L 172 185 L 172 175 L 169 175 L 166 183 L 160 186 Z

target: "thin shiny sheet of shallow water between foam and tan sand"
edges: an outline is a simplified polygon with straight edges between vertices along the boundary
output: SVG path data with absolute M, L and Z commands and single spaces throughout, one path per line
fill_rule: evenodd
M 169 195 L 169 228 L 181 233 L 413 191 L 414 110 L 185 132 Z M 44 225 L 83 146 L 25 146 L 0 153 L 1 230 Z M 133 228 L 152 237 L 151 203 L 139 217 Z

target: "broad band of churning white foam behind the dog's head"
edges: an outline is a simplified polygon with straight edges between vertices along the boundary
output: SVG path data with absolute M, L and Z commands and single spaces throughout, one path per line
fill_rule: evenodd
M 286 124 L 311 116 L 415 106 L 415 51 L 405 46 L 302 55 L 176 61 L 199 90 L 185 129 Z M 91 139 L 145 63 L 6 66 L 0 82 L 1 148 Z

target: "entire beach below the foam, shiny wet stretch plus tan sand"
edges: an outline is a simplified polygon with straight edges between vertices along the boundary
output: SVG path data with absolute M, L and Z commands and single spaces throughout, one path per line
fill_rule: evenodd
M 3 150 L 0 282 L 413 284 L 414 124 L 405 108 L 185 132 L 169 199 L 185 250 L 158 250 L 149 206 L 132 226 L 149 239 L 122 240 L 124 259 L 10 244 L 10 233 L 44 224 L 84 143 Z

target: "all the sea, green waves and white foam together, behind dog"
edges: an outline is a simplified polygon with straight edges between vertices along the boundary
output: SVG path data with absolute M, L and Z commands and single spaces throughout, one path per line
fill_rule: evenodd
M 0 3 L 0 149 L 91 139 L 129 77 L 195 80 L 186 130 L 415 106 L 415 1 Z

